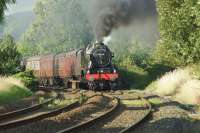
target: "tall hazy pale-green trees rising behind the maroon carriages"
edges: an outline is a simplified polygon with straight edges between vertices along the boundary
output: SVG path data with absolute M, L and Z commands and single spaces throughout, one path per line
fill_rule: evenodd
M 87 45 L 92 28 L 82 8 L 83 0 L 40 0 L 36 20 L 19 42 L 25 55 L 59 53 Z

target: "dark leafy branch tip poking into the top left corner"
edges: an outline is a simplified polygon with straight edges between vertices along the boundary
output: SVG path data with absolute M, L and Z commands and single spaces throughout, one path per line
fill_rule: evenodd
M 15 0 L 1 0 L 0 1 L 0 21 L 3 20 L 4 11 L 7 9 L 7 4 L 14 3 Z

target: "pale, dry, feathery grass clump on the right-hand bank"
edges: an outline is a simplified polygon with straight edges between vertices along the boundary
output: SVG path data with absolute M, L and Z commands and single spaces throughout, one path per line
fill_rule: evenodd
M 194 67 L 179 68 L 166 73 L 146 89 L 161 96 L 171 96 L 182 104 L 200 105 L 199 73 Z

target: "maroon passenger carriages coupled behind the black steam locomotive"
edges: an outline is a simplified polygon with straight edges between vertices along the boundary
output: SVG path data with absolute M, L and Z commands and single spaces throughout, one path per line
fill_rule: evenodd
M 86 63 L 84 50 L 58 55 L 36 56 L 26 59 L 26 69 L 33 70 L 40 85 L 69 85 L 69 80 L 81 80 Z

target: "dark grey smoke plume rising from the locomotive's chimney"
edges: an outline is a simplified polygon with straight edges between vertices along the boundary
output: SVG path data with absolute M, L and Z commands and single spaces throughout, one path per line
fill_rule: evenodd
M 89 14 L 98 41 L 109 36 L 113 29 L 157 14 L 154 0 L 90 0 L 89 3 Z

